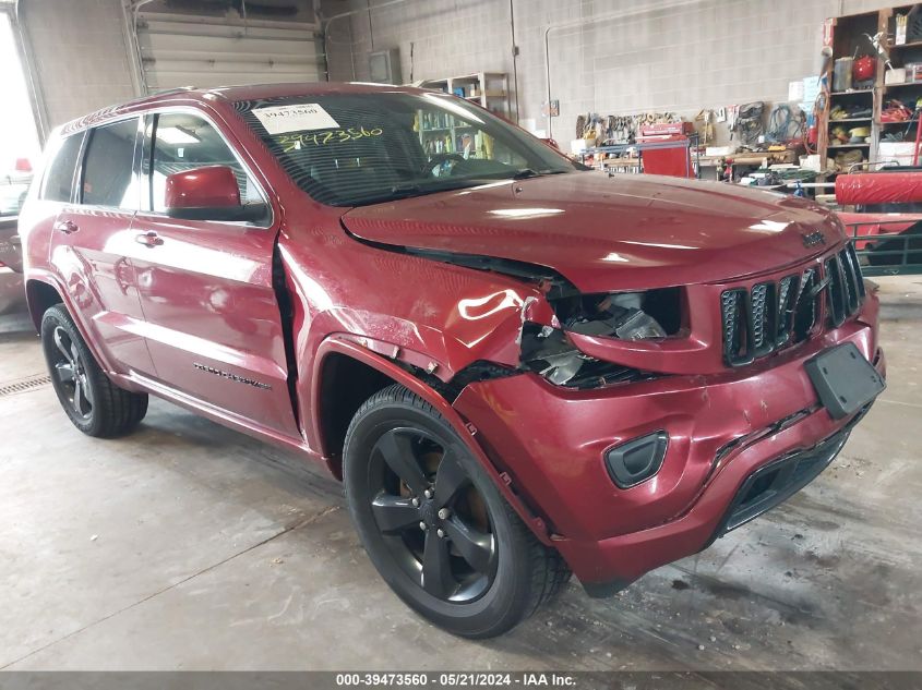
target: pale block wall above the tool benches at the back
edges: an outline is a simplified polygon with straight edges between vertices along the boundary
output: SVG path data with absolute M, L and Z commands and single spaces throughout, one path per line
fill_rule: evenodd
M 336 21 L 330 29 L 333 80 L 368 76 L 367 52 L 398 47 L 404 78 L 480 70 L 512 74 L 510 17 L 519 47 L 519 116 L 542 123 L 544 33 L 550 34 L 554 135 L 568 140 L 576 116 L 648 110 L 694 114 L 752 100 L 787 100 L 788 82 L 814 73 L 827 16 L 890 4 L 882 0 L 406 0 Z M 366 0 L 322 0 L 325 16 Z M 630 16 L 611 15 L 632 13 Z M 343 45 L 343 44 L 346 45 Z M 410 45 L 414 59 L 410 61 Z

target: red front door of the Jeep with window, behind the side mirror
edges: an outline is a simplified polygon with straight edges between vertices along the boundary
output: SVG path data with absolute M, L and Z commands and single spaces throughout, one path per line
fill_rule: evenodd
M 266 195 L 203 113 L 156 114 L 144 152 L 149 199 L 132 232 L 148 240 L 134 263 L 159 378 L 231 416 L 300 438 L 273 288 L 275 225 L 179 220 L 164 204 L 169 174 L 216 165 L 234 171 L 244 203 Z

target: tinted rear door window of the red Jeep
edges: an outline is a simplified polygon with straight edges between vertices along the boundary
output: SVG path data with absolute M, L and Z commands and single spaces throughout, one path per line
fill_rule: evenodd
M 136 209 L 134 173 L 137 118 L 94 129 L 83 159 L 83 196 L 88 205 Z

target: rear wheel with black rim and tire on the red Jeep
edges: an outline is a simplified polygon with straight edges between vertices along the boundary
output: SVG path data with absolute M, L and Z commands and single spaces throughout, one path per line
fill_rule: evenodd
M 133 431 L 144 419 L 147 395 L 109 380 L 61 304 L 41 317 L 41 348 L 58 400 L 81 432 L 112 438 Z

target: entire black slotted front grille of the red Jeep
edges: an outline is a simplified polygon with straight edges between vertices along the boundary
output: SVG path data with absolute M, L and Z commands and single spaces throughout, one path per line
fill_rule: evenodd
M 824 262 L 822 277 L 817 268 L 809 268 L 777 282 L 725 290 L 720 294 L 725 362 L 744 366 L 806 340 L 816 326 L 824 292 L 834 326 L 841 326 L 858 312 L 864 282 L 851 244 Z

